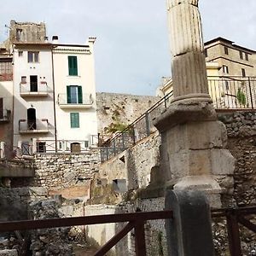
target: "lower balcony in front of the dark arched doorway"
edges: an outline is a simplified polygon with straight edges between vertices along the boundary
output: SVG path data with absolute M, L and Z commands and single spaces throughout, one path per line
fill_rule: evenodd
M 49 132 L 48 119 L 36 119 L 36 120 L 20 119 L 19 132 L 20 134 L 48 133 Z

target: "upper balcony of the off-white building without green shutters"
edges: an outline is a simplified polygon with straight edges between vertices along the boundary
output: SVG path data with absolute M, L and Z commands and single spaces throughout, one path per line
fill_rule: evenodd
M 39 84 L 20 83 L 21 97 L 46 97 L 49 93 L 49 87 L 46 82 Z

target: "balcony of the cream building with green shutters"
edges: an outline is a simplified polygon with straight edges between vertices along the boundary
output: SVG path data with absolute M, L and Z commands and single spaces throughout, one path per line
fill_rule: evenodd
M 83 94 L 81 99 L 73 97 L 67 100 L 67 94 L 59 94 L 57 100 L 60 108 L 91 108 L 93 99 L 91 94 Z

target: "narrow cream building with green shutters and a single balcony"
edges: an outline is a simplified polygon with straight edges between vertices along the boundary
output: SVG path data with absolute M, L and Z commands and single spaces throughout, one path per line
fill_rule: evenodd
M 87 45 L 57 44 L 56 40 L 53 70 L 57 149 L 80 152 L 96 143 L 96 38 L 89 38 Z

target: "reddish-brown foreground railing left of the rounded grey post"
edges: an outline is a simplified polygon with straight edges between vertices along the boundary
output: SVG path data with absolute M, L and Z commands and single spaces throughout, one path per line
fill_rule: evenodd
M 23 220 L 0 222 L 0 232 L 16 230 L 35 230 L 57 227 L 69 227 L 91 224 L 127 223 L 125 227 L 112 237 L 94 256 L 103 256 L 125 237 L 132 229 L 135 235 L 135 250 L 137 256 L 146 256 L 146 241 L 144 224 L 148 220 L 172 218 L 172 211 L 161 212 L 132 212 L 120 214 L 106 214 L 73 218 L 50 218 L 38 220 Z

